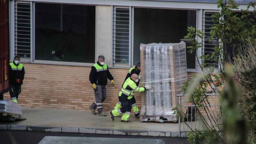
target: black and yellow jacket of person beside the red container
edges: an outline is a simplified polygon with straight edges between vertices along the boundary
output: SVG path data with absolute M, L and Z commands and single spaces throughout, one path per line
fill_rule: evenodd
M 25 70 L 21 63 L 16 65 L 14 62 L 10 63 L 9 67 L 9 83 L 13 85 L 22 85 L 24 79 Z M 16 80 L 20 79 L 20 82 L 17 83 Z

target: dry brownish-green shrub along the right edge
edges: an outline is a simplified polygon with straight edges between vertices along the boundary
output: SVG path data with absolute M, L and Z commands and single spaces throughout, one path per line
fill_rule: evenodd
M 241 89 L 239 112 L 248 122 L 248 143 L 256 143 L 256 46 L 247 44 L 234 58 L 234 77 Z

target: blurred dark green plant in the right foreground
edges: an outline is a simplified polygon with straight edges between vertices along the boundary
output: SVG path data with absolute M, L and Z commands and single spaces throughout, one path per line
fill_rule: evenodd
M 226 80 L 223 93 L 221 94 L 221 107 L 223 112 L 223 131 L 226 143 L 246 144 L 246 122 L 238 113 L 238 97 L 241 92 L 232 78 L 231 65 L 226 65 L 224 77 Z

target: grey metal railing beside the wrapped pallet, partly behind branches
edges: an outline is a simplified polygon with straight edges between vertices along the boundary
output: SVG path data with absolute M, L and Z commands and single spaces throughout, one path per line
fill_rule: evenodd
M 184 95 L 179 97 L 179 104 L 182 104 L 184 122 L 179 119 L 178 132 L 180 137 L 185 137 L 189 131 L 198 129 L 205 130 L 207 127 L 218 127 L 220 123 L 219 97 L 216 93 L 207 93 L 207 99 L 202 100 L 203 106 L 189 103 L 189 98 Z M 200 113 L 198 112 L 200 111 Z

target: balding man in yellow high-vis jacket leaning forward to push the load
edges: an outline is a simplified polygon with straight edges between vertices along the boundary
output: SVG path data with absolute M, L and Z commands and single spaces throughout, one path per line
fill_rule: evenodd
M 119 101 L 121 102 L 122 108 L 120 109 L 114 109 L 110 111 L 110 117 L 111 120 L 114 120 L 115 116 L 118 116 L 123 113 L 121 122 L 122 123 L 131 123 L 130 120 L 128 120 L 130 113 L 131 113 L 131 99 L 134 95 L 135 92 L 143 92 L 145 90 L 151 89 L 151 86 L 145 86 L 139 88 L 136 86 L 136 82 L 138 82 L 138 75 L 137 74 L 132 74 L 131 77 L 129 77 L 125 83 L 122 86 L 121 91 L 119 92 Z

